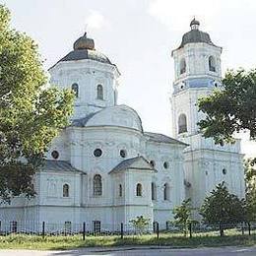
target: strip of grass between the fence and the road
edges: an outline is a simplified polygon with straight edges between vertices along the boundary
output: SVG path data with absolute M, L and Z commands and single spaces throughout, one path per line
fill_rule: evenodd
M 168 245 L 171 247 L 216 247 L 216 246 L 253 246 L 256 245 L 256 233 L 252 235 L 237 234 L 226 231 L 224 237 L 218 232 L 193 234 L 192 238 L 182 234 L 160 233 L 124 236 L 45 236 L 12 234 L 0 236 L 0 249 L 38 249 L 38 250 L 65 250 L 79 247 L 123 246 L 123 245 Z

